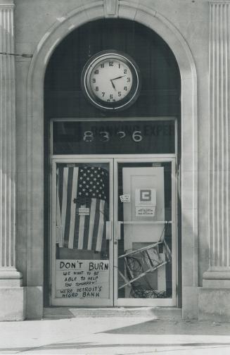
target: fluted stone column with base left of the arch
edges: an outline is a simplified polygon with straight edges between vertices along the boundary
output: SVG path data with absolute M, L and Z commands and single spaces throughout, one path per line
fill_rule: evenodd
M 0 0 L 0 320 L 23 318 L 15 268 L 15 57 L 13 1 Z

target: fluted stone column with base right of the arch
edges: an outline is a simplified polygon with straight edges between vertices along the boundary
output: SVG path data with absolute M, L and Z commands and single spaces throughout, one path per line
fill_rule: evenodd
M 230 1 L 216 0 L 210 1 L 210 266 L 200 292 L 203 320 L 230 319 L 229 118 Z

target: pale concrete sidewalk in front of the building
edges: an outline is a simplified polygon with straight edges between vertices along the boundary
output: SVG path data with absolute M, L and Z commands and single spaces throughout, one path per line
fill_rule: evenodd
M 0 335 L 0 354 L 230 354 L 230 324 L 178 317 L 1 322 Z

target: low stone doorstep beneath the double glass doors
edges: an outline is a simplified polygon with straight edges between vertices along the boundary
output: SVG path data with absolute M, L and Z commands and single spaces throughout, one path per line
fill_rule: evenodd
M 87 317 L 151 317 L 181 318 L 181 309 L 176 307 L 46 307 L 43 318 L 87 318 Z

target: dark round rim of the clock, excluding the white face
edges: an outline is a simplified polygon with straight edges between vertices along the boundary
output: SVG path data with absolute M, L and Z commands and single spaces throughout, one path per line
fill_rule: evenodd
M 129 69 L 132 71 L 132 76 L 133 76 L 133 84 L 132 84 L 132 89 L 129 91 L 127 96 L 124 97 L 124 99 L 121 99 L 119 101 L 115 102 L 106 102 L 98 98 L 93 92 L 93 90 L 89 89 L 89 75 L 91 74 L 91 67 L 95 66 L 97 63 L 100 63 L 100 61 L 104 60 L 106 56 L 110 56 L 110 58 L 120 58 L 120 60 L 124 61 L 124 63 L 129 66 Z M 82 91 L 84 92 L 84 96 L 86 96 L 87 100 L 96 106 L 97 108 L 100 108 L 101 110 L 105 111 L 119 111 L 123 110 L 125 108 L 128 108 L 134 102 L 136 99 L 138 99 L 140 91 L 141 91 L 141 72 L 139 70 L 139 66 L 137 66 L 136 62 L 134 59 L 129 56 L 128 54 L 125 54 L 122 51 L 117 51 L 115 49 L 110 49 L 106 51 L 100 51 L 94 56 L 91 56 L 87 63 L 84 65 L 84 68 L 82 70 L 82 77 L 81 77 L 81 84 L 82 84 Z

